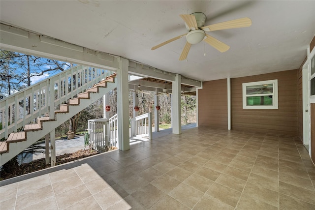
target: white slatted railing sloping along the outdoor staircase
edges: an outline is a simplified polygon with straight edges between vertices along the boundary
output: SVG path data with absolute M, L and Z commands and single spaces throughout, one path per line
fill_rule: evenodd
M 10 133 L 17 132 L 38 117 L 46 115 L 55 119 L 56 106 L 113 73 L 109 70 L 76 65 L 1 99 L 0 139 L 7 139 Z

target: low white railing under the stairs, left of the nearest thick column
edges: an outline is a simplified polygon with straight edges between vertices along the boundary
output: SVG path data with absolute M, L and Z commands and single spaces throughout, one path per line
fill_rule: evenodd
M 88 131 L 94 150 L 104 152 L 118 148 L 117 114 L 110 119 L 88 120 Z

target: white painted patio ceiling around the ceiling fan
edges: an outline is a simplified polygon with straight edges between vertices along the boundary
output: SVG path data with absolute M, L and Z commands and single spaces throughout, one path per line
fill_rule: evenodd
M 249 28 L 208 32 L 230 46 L 204 42 L 179 61 L 187 33 L 180 14 L 203 12 L 205 25 L 242 17 Z M 0 1 L 0 21 L 72 44 L 208 81 L 299 68 L 315 35 L 315 1 Z M 204 56 L 204 49 L 206 56 Z

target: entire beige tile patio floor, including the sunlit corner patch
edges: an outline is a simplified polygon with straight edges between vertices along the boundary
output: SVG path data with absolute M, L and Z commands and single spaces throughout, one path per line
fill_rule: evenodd
M 1 210 L 315 210 L 315 166 L 298 139 L 207 128 L 0 185 Z

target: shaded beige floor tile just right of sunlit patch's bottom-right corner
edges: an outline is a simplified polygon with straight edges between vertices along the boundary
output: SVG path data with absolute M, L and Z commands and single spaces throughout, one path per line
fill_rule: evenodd
M 136 192 L 131 194 L 131 196 L 146 209 L 150 209 L 165 195 L 166 194 L 164 192 L 162 192 L 152 184 L 141 187 Z

